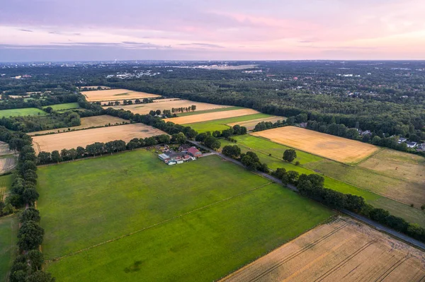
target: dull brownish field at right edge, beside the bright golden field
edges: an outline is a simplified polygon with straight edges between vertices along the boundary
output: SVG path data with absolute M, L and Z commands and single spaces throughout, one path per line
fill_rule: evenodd
M 425 185 L 425 158 L 420 155 L 385 149 L 360 163 L 359 166 L 375 170 L 388 177 Z

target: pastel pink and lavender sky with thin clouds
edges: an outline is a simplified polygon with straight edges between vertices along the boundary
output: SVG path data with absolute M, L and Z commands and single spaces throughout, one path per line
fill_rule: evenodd
M 0 61 L 425 59 L 424 0 L 11 0 Z

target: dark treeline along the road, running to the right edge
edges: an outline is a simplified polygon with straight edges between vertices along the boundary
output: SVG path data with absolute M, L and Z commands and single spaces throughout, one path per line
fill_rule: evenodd
M 416 240 L 425 242 L 425 228 L 416 223 L 408 223 L 403 218 L 392 216 L 385 209 L 374 208 L 372 205 L 367 204 L 362 196 L 344 194 L 325 188 L 324 177 L 321 175 L 299 175 L 298 172 L 286 171 L 285 168 L 278 168 L 271 175 L 282 180 L 283 184 L 294 184 L 303 196 L 308 196 L 331 208 L 353 211 L 373 221 L 387 225 L 398 232 L 407 234 Z

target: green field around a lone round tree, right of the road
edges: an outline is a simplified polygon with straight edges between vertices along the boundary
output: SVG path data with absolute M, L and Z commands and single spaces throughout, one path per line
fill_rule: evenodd
M 222 147 L 236 144 L 241 148 L 242 152 L 254 151 L 259 156 L 260 161 L 267 163 L 272 170 L 285 168 L 286 170 L 294 170 L 306 175 L 319 173 L 324 177 L 325 187 L 346 194 L 363 196 L 369 204 L 373 204 L 377 208 L 385 208 L 395 216 L 425 227 L 425 213 L 423 211 L 377 194 L 383 192 L 380 187 L 387 184 L 387 182 L 400 183 L 401 180 L 378 175 L 363 168 L 326 160 L 298 150 L 295 150 L 297 151 L 296 160 L 300 161 L 300 165 L 294 165 L 283 161 L 281 158 L 283 151 L 288 148 L 286 146 L 248 134 L 234 136 L 234 139 L 237 139 L 237 143 L 220 139 Z M 268 154 L 271 154 L 271 156 Z

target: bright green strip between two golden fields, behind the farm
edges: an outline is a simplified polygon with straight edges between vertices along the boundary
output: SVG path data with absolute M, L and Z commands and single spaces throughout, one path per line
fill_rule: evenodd
M 198 131 L 199 133 L 206 131 L 222 131 L 229 129 L 229 126 L 226 124 L 231 124 L 233 122 L 245 122 L 246 120 L 251 119 L 263 119 L 266 117 L 272 117 L 270 114 L 248 114 L 242 117 L 230 117 L 228 119 L 215 119 L 208 122 L 196 122 L 193 124 L 183 124 L 185 127 L 191 127 Z

